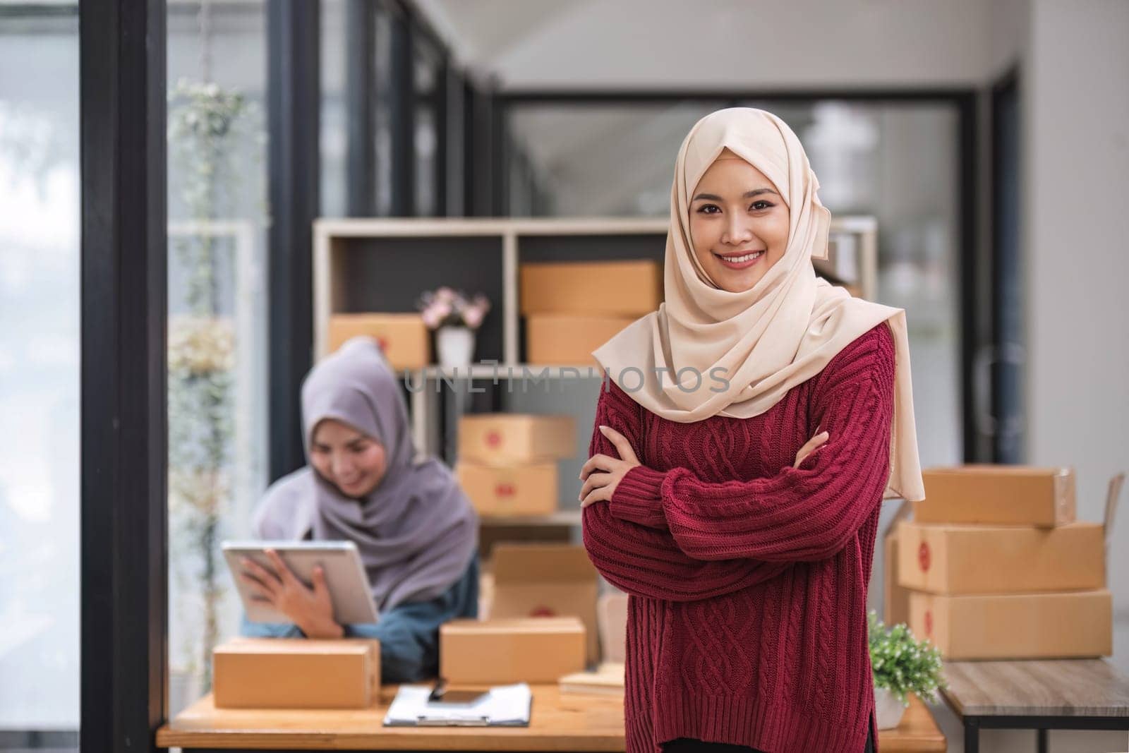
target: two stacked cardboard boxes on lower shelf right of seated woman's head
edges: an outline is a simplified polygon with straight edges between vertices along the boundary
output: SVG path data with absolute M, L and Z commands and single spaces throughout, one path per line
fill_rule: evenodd
M 480 413 L 458 421 L 455 473 L 480 515 L 557 511 L 557 461 L 576 455 L 570 415 Z

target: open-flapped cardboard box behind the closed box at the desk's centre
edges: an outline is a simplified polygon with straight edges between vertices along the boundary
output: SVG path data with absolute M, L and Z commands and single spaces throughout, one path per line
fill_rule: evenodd
M 490 558 L 490 571 L 491 618 L 576 616 L 587 633 L 587 660 L 599 660 L 598 579 L 584 546 L 499 543 Z

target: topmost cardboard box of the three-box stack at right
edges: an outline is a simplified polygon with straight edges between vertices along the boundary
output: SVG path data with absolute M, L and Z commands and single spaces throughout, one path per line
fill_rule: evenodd
M 926 499 L 913 504 L 918 523 L 1053 527 L 1075 520 L 1071 469 L 964 465 L 928 469 L 921 479 Z

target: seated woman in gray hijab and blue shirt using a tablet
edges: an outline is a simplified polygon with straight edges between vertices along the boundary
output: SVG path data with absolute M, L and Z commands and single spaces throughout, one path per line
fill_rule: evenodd
M 478 516 L 450 470 L 415 455 L 408 406 L 375 340 L 355 338 L 301 387 L 308 465 L 275 481 L 255 510 L 263 540 L 357 544 L 379 612 L 339 625 L 320 572 L 306 586 L 271 553 L 273 572 L 244 560 L 244 578 L 294 624 L 243 620 L 254 637 L 377 638 L 383 682 L 438 673 L 439 625 L 478 616 Z

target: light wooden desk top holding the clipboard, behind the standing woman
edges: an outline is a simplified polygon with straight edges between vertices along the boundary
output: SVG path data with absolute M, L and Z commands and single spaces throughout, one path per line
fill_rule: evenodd
M 368 709 L 217 709 L 205 695 L 157 732 L 158 747 L 374 751 L 606 751 L 621 753 L 623 701 L 531 685 L 528 727 L 384 727 L 395 685 Z M 912 698 L 896 729 L 878 734 L 882 753 L 946 750 L 929 709 Z

